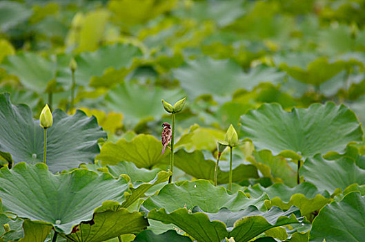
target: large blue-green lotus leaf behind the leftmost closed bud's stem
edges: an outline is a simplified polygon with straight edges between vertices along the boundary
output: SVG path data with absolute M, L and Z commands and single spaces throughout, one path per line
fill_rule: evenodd
M 99 153 L 97 140 L 106 138 L 95 117 L 82 111 L 67 115 L 56 109 L 53 125 L 47 131 L 47 165 L 50 171 L 78 167 L 93 162 Z M 0 95 L 0 151 L 10 153 L 17 163 L 43 162 L 44 131 L 39 120 L 33 120 L 26 105 L 12 105 L 8 93 Z

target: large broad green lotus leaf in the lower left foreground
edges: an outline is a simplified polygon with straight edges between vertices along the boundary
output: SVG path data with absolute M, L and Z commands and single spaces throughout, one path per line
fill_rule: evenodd
M 0 198 L 8 212 L 45 221 L 69 234 L 73 225 L 90 221 L 103 201 L 122 201 L 128 180 L 87 169 L 53 175 L 43 163 L 21 162 L 0 169 Z

